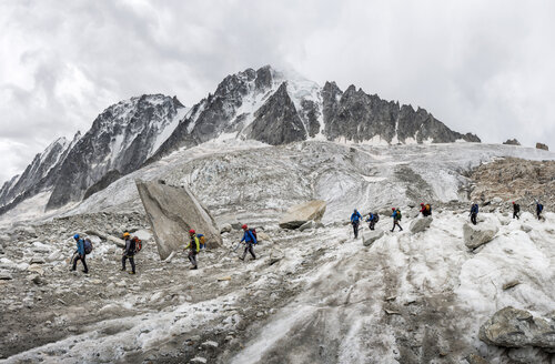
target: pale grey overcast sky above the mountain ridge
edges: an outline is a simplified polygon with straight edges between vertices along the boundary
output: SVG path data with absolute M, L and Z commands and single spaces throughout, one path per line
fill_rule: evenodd
M 555 149 L 554 19 L 555 1 L 2 0 L 0 181 L 122 99 L 192 105 L 264 64 Z

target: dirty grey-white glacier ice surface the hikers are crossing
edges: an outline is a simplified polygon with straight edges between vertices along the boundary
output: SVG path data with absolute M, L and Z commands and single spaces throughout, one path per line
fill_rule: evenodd
M 554 213 L 538 221 L 522 206 L 513 220 L 506 196 L 480 215 L 478 224 L 498 229 L 494 239 L 473 251 L 464 243 L 465 175 L 505 155 L 555 156 L 466 143 L 224 143 L 176 152 L 54 219 L 0 230 L 0 361 L 466 363 L 474 354 L 486 363 L 553 363 L 535 347 L 478 338 L 480 326 L 505 306 L 544 317 L 555 310 Z M 258 259 L 238 259 L 241 247 L 230 247 L 241 232 L 232 230 L 222 249 L 201 252 L 198 271 L 183 252 L 161 262 L 138 178 L 188 184 L 221 225 L 244 222 L 265 233 Z M 323 226 L 278 226 L 284 210 L 311 199 L 327 202 Z M 413 234 L 421 201 L 433 201 L 434 220 Z M 403 210 L 403 232 L 390 231 L 392 205 Z M 354 239 L 345 225 L 354 208 L 381 214 L 376 230 L 385 233 L 370 246 L 367 226 Z M 95 236 L 124 230 L 143 239 L 137 275 L 120 271 L 120 247 Z M 95 246 L 88 275 L 81 263 L 69 271 L 75 232 Z

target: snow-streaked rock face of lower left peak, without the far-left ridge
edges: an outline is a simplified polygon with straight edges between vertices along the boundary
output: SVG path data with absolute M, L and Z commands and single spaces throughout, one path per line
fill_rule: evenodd
M 179 108 L 176 99 L 157 94 L 104 110 L 61 164 L 47 209 L 81 200 L 99 182 L 94 190 L 105 186 L 101 181 L 107 175 L 112 182 L 113 176 L 139 169 L 158 148 L 159 135 L 171 128 Z

